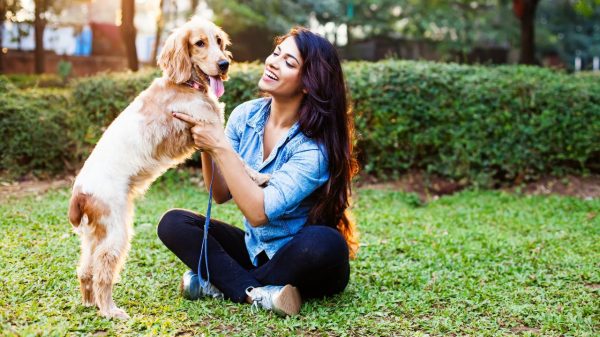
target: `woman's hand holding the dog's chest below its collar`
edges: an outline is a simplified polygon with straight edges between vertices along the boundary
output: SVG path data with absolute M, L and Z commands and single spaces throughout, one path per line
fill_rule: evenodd
M 173 117 L 180 119 L 191 126 L 194 146 L 197 150 L 212 154 L 215 150 L 222 148 L 227 143 L 225 133 L 221 125 L 198 121 L 186 114 L 172 112 Z

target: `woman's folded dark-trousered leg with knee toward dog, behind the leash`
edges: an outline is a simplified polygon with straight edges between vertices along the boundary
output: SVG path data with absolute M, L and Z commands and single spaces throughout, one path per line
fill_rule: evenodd
M 202 247 L 205 217 L 187 210 L 166 212 L 158 224 L 158 237 L 190 269 L 197 272 Z M 234 302 L 246 300 L 247 287 L 261 283 L 248 272 L 250 261 L 244 231 L 218 220 L 210 221 L 208 232 L 208 267 L 210 282 Z M 201 272 L 206 266 L 202 259 Z

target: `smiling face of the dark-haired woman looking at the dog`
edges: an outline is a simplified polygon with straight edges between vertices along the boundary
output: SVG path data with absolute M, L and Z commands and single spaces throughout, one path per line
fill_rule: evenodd
M 290 97 L 302 94 L 302 57 L 293 36 L 275 47 L 265 61 L 265 71 L 258 81 L 260 90 L 271 96 Z

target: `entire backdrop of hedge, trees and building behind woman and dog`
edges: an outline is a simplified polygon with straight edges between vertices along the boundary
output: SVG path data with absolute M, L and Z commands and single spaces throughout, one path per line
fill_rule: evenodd
M 303 25 L 329 39 L 362 181 L 422 172 L 454 191 L 600 173 L 600 0 L 0 0 L 0 186 L 77 172 L 194 15 L 233 42 L 226 116 L 260 96 L 274 37 Z M 600 195 L 596 177 L 569 186 Z

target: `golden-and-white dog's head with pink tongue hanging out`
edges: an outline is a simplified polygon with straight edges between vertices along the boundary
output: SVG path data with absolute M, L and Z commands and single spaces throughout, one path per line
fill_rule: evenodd
M 222 89 L 222 81 L 228 78 L 230 44 L 229 36 L 214 23 L 193 18 L 169 35 L 158 66 L 175 83 L 186 82 L 195 72 L 199 77 L 195 80 Z

